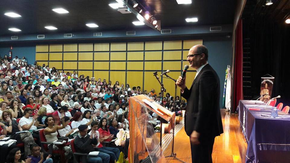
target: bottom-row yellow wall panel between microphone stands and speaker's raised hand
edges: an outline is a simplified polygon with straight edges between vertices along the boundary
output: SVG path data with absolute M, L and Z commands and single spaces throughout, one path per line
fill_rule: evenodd
M 170 72 L 170 74 L 168 74 L 168 75 L 171 78 L 178 79 L 178 77 L 181 75 L 181 73 L 180 72 Z M 166 88 L 166 92 L 164 92 L 164 97 L 165 97 L 166 93 L 169 93 L 170 96 L 174 97 L 175 82 L 173 80 L 171 80 L 171 79 L 163 78 L 163 84 L 164 84 L 164 87 Z M 176 94 L 177 94 L 177 96 L 180 97 L 180 88 L 179 87 L 177 87 Z

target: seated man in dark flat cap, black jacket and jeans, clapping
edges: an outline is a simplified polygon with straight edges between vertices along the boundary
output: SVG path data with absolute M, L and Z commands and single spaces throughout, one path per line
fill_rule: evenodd
M 87 131 L 88 131 L 87 125 L 80 125 L 78 129 L 79 129 L 79 134 L 76 136 L 75 142 L 74 142 L 76 152 L 89 154 L 90 152 L 95 151 L 95 148 L 93 145 L 98 144 L 96 132 L 94 131 L 93 133 L 91 133 L 91 135 L 87 134 Z M 95 163 L 95 162 L 108 163 L 109 161 L 110 161 L 110 155 L 103 152 L 99 152 L 98 155 L 96 156 L 89 155 L 87 157 L 88 163 Z

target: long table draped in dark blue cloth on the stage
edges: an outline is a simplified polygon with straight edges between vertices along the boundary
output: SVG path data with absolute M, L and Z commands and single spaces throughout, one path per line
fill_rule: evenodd
M 248 143 L 246 162 L 290 162 L 290 115 L 271 116 L 271 106 L 240 100 L 239 121 Z M 261 110 L 249 110 L 259 108 Z

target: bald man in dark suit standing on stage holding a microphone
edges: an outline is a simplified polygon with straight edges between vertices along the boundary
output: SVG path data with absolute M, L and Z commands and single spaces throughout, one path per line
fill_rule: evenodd
M 212 162 L 214 138 L 223 133 L 219 108 L 220 81 L 208 64 L 208 50 L 204 45 L 193 46 L 187 56 L 190 67 L 197 70 L 191 88 L 185 86 L 185 77 L 176 84 L 187 100 L 185 132 L 190 136 L 192 163 Z

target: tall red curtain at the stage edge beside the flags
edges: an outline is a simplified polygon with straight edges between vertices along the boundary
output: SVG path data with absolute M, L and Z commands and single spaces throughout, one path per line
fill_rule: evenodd
M 234 105 L 232 111 L 237 110 L 240 100 L 243 100 L 243 22 L 240 19 L 236 28 L 235 62 L 234 62 Z

